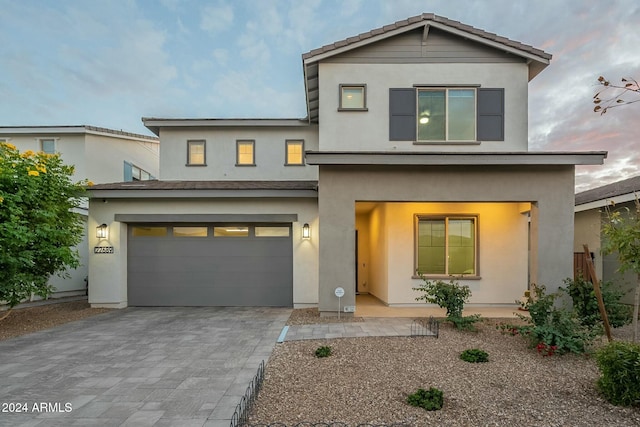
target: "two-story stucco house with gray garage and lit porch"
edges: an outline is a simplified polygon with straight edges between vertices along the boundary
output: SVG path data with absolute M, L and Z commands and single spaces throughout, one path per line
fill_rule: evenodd
M 342 287 L 348 311 L 357 292 L 408 306 L 417 271 L 471 304 L 557 288 L 575 165 L 606 152 L 528 151 L 550 59 L 423 14 L 304 54 L 304 119 L 143 118 L 159 181 L 93 188 L 89 228 L 109 234 L 90 246 L 113 253 L 90 254 L 89 301 L 335 312 Z

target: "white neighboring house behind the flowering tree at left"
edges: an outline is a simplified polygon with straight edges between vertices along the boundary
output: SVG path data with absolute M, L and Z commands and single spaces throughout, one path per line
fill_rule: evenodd
M 158 138 L 94 126 L 0 126 L 0 141 L 10 142 L 20 151 L 60 153 L 65 164 L 73 165 L 73 180 L 93 183 L 154 179 L 158 175 Z M 86 223 L 88 203 L 78 213 Z M 70 278 L 54 276 L 54 297 L 86 294 L 88 245 L 85 237 L 78 252 L 81 265 L 67 272 Z

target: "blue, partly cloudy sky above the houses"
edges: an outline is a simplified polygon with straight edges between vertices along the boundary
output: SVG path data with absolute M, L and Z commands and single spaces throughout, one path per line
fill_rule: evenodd
M 593 112 L 599 76 L 640 79 L 637 0 L 0 0 L 0 126 L 304 118 L 303 53 L 421 13 L 553 55 L 529 149 L 608 151 L 576 191 L 640 174 L 640 103 Z

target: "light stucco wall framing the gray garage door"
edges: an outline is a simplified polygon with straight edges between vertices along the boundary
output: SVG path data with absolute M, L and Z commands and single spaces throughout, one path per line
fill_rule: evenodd
M 116 214 L 297 214 L 293 224 L 293 302 L 295 307 L 318 304 L 318 208 L 316 199 L 92 199 L 89 230 L 109 227 L 109 237 L 99 242 L 89 233 L 89 303 L 93 306 L 127 306 L 127 224 Z M 311 239 L 302 240 L 302 225 L 311 226 Z M 114 247 L 114 254 L 94 254 L 93 247 Z

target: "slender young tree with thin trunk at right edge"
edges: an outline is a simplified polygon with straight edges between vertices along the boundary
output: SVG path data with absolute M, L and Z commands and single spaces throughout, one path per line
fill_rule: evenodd
M 602 227 L 605 243 L 604 254 L 615 253 L 620 262 L 620 271 L 633 271 L 638 274 L 633 303 L 633 341 L 638 339 L 638 308 L 640 306 L 640 200 L 636 197 L 635 212 L 625 208 L 622 211 L 606 208 L 606 220 Z

